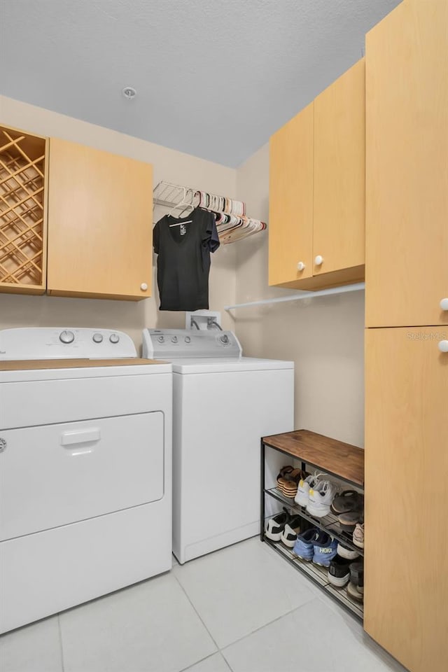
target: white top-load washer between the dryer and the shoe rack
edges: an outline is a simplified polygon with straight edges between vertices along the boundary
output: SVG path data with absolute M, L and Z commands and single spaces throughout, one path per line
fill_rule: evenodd
M 293 430 L 293 362 L 242 357 L 216 330 L 146 329 L 143 352 L 173 364 L 176 558 L 258 534 L 260 437 Z

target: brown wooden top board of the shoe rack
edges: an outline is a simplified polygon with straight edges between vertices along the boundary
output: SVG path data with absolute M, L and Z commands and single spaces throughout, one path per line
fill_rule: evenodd
M 353 484 L 364 485 L 364 451 L 349 443 L 300 429 L 262 438 L 266 445 L 338 476 Z

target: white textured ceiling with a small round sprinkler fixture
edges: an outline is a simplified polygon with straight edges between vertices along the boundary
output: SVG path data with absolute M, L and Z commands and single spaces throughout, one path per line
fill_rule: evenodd
M 0 0 L 0 92 L 236 167 L 399 1 Z

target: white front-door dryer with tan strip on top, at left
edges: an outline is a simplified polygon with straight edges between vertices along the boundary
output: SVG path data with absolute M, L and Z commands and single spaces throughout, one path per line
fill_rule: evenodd
M 172 365 L 106 329 L 0 331 L 0 631 L 172 566 Z

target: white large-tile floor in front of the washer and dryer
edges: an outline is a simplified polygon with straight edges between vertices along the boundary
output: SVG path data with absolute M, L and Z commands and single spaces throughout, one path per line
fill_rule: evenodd
M 258 538 L 0 638 L 1 672 L 403 672 Z

